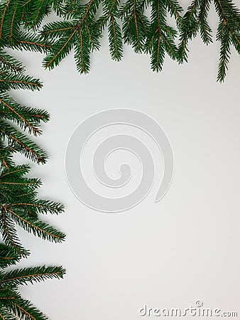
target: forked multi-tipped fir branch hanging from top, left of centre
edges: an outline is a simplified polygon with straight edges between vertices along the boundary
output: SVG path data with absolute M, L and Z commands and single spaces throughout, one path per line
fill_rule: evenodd
M 71 9 L 65 14 L 68 18 L 73 16 L 74 19 L 71 22 L 50 23 L 46 28 L 43 28 L 45 37 L 53 34 L 54 37 L 60 39 L 57 43 L 53 43 L 52 52 L 44 59 L 43 65 L 45 68 L 51 69 L 58 65 L 70 53 L 70 50 L 75 48 L 77 70 L 80 73 L 89 71 L 89 46 L 91 50 L 99 48 L 98 38 L 100 33 L 95 28 L 95 22 L 92 19 L 92 15 L 96 14 L 98 6 L 99 0 L 90 0 L 85 5 L 77 6 L 75 4 L 75 9 Z M 91 31 L 90 25 L 94 26 Z

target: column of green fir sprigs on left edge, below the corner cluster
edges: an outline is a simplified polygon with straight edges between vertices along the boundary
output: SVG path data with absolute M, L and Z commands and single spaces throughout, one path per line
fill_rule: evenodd
M 47 122 L 49 114 L 23 106 L 9 95 L 9 90 L 13 89 L 39 90 L 42 85 L 38 79 L 25 75 L 23 65 L 2 49 L 0 66 L 0 319 L 47 319 L 31 302 L 21 298 L 18 285 L 59 279 L 65 270 L 45 266 L 9 272 L 4 269 L 30 254 L 18 238 L 16 225 L 44 240 L 62 242 L 65 239 L 64 233 L 43 223 L 39 216 L 41 213 L 62 213 L 63 206 L 38 199 L 40 179 L 28 178 L 31 167 L 17 165 L 12 159 L 14 153 L 20 152 L 38 164 L 45 163 L 47 154 L 29 136 L 42 133 L 40 123 Z

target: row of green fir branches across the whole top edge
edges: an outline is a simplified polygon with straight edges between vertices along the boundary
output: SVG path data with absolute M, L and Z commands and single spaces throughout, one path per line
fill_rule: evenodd
M 126 0 L 121 5 L 119 0 L 89 0 L 87 4 L 80 0 L 8 0 L 0 5 L 0 47 L 2 42 L 18 50 L 44 52 L 43 66 L 49 69 L 74 50 L 77 70 L 88 73 L 90 54 L 99 50 L 99 40 L 107 27 L 112 59 L 121 60 L 123 43 L 127 43 L 136 53 L 149 53 L 151 68 L 158 72 L 163 68 L 165 54 L 178 63 L 187 61 L 189 42 L 197 33 L 206 45 L 212 43 L 208 21 L 211 5 L 219 16 L 217 80 L 222 82 L 231 46 L 240 52 L 240 14 L 233 0 L 192 0 L 186 11 L 178 0 Z M 148 8 L 151 17 L 146 14 Z M 44 25 L 45 16 L 52 10 L 59 20 Z M 168 13 L 177 28 L 166 23 Z

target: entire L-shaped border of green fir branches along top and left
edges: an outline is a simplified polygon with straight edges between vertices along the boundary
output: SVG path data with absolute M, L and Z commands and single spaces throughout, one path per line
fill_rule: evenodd
M 200 33 L 202 41 L 212 43 L 207 21 L 211 4 L 217 11 L 220 43 L 217 81 L 226 77 L 231 48 L 240 53 L 240 13 L 231 0 L 193 0 L 183 13 L 176 0 L 2 0 L 0 3 L 0 319 L 43 320 L 47 317 L 18 292 L 18 285 L 62 278 L 62 267 L 28 267 L 7 271 L 30 252 L 21 245 L 15 225 L 45 240 L 61 242 L 64 233 L 43 223 L 42 213 L 61 213 L 63 206 L 37 198 L 39 178 L 28 178 L 28 165 L 17 165 L 12 156 L 20 152 L 37 164 L 47 160 L 45 151 L 31 140 L 41 134 L 40 123 L 48 112 L 26 107 L 9 95 L 9 90 L 39 90 L 40 80 L 25 75 L 21 62 L 5 50 L 33 50 L 45 53 L 43 67 L 53 69 L 70 53 L 80 73 L 88 73 L 90 55 L 99 50 L 107 28 L 109 52 L 121 60 L 123 44 L 136 53 L 151 56 L 151 69 L 161 71 L 165 55 L 183 63 L 188 44 Z M 146 10 L 151 10 L 150 18 Z M 43 19 L 55 11 L 58 21 L 43 25 Z M 168 23 L 173 18 L 175 27 Z M 43 25 L 43 26 L 42 26 Z

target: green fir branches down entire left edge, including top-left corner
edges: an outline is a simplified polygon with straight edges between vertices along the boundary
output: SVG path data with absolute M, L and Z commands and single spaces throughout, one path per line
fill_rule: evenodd
M 19 31 L 22 23 L 25 23 L 25 26 L 28 24 L 28 27 L 36 28 L 47 13 L 47 10 L 39 10 L 38 7 L 34 19 L 31 19 L 31 8 L 38 6 L 38 1 L 42 8 L 47 9 L 48 0 L 31 0 L 24 3 L 22 0 L 9 0 L 5 6 L 0 5 L 0 23 L 2 22 L 0 24 L 0 233 L 4 241 L 0 243 L 1 269 L 14 265 L 21 257 L 29 255 L 28 250 L 21 245 L 18 239 L 15 224 L 46 240 L 61 242 L 65 239 L 63 233 L 38 219 L 38 213 L 60 213 L 63 206 L 53 201 L 37 200 L 36 188 L 41 184 L 40 179 L 26 178 L 30 167 L 16 166 L 11 157 L 14 152 L 19 151 L 38 163 L 44 163 L 47 158 L 45 152 L 36 143 L 19 132 L 19 128 L 28 129 L 30 134 L 40 134 L 39 124 L 41 121 L 48 121 L 48 112 L 22 106 L 6 94 L 6 91 L 12 89 L 39 90 L 41 83 L 28 75 L 23 75 L 21 63 L 1 49 L 5 46 L 41 52 L 51 50 L 52 46 L 40 36 Z M 89 33 L 91 32 L 89 30 Z M 18 129 L 12 127 L 9 120 L 17 124 Z M 36 272 L 31 273 L 34 271 Z M 16 292 L 16 287 L 18 284 L 27 282 L 61 278 L 64 273 L 65 270 L 62 267 L 0 271 L 0 319 L 47 319 L 30 302 L 21 298 Z

